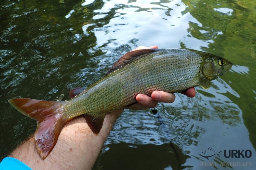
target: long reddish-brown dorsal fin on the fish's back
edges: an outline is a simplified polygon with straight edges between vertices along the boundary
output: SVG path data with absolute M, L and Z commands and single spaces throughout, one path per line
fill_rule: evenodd
M 120 57 L 113 65 L 112 67 L 109 69 L 109 71 L 107 72 L 107 75 L 112 73 L 113 71 L 117 70 L 118 68 L 127 65 L 129 63 L 131 63 L 132 61 L 139 59 L 141 57 L 144 57 L 145 55 L 148 55 L 152 52 L 156 52 L 159 49 L 155 49 L 155 48 L 148 48 L 148 49 L 141 49 L 141 50 L 135 50 L 135 51 L 130 51 L 128 53 L 126 53 L 125 55 L 123 55 L 122 57 Z

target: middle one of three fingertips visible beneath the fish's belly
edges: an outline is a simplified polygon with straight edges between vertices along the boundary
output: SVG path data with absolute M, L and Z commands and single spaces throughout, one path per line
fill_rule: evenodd
M 151 94 L 153 100 L 164 103 L 173 103 L 175 95 L 173 93 L 166 93 L 162 91 L 153 91 Z

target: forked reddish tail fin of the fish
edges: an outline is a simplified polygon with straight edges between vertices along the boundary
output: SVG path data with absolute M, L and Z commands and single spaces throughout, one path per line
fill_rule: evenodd
M 63 119 L 63 102 L 40 101 L 29 98 L 13 98 L 8 101 L 19 112 L 37 120 L 35 143 L 42 159 L 55 146 L 60 131 L 67 122 Z

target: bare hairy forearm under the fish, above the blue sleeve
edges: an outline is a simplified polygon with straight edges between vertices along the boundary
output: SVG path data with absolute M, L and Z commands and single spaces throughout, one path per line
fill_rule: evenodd
M 92 133 L 83 117 L 71 120 L 63 127 L 51 154 L 44 160 L 38 155 L 33 138 L 9 156 L 23 161 L 32 169 L 91 169 L 122 110 L 106 115 L 98 135 Z

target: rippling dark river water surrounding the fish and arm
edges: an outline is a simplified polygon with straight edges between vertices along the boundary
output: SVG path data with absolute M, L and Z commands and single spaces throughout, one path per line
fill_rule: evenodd
M 36 129 L 8 99 L 66 100 L 124 53 L 158 45 L 210 52 L 234 66 L 210 89 L 197 87 L 196 97 L 160 103 L 157 115 L 125 110 L 94 169 L 256 168 L 256 1 L 6 0 L 0 21 L 0 157 Z M 226 158 L 224 150 L 252 155 Z M 207 160 L 204 151 L 221 157 Z

